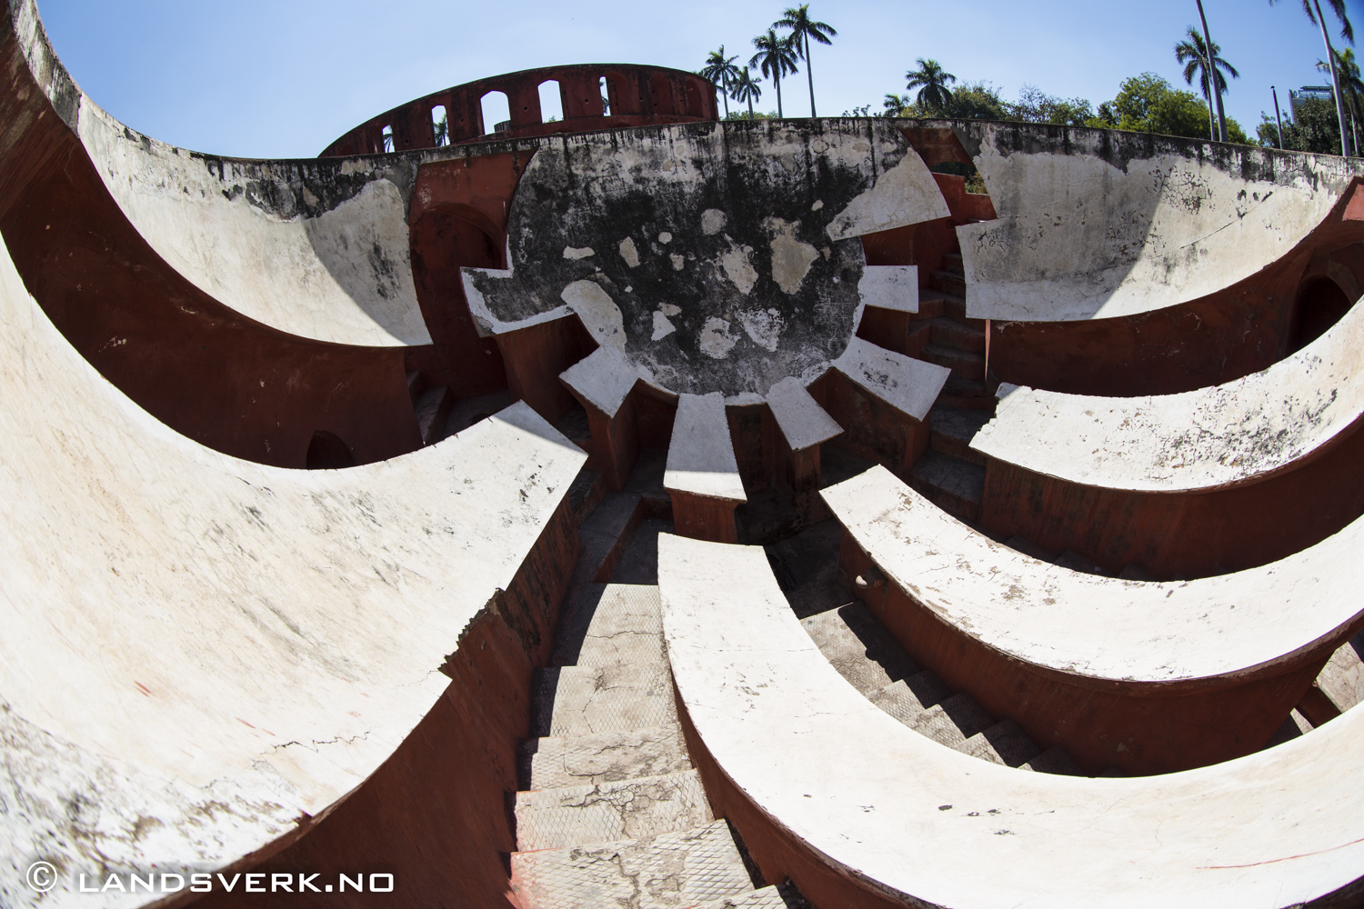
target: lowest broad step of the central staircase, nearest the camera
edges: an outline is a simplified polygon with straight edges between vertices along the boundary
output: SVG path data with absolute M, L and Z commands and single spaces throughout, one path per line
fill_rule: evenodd
M 512 854 L 522 909 L 682 909 L 753 891 L 723 820 L 645 839 Z M 723 904 L 722 904 L 723 905 Z

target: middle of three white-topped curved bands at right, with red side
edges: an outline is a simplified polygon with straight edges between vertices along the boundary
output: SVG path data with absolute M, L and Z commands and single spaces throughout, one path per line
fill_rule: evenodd
M 1251 754 L 1364 626 L 1364 521 L 1262 568 L 1157 583 L 1030 559 L 884 467 L 821 495 L 847 531 L 843 572 L 889 578 L 861 596 L 906 650 L 1090 773 Z

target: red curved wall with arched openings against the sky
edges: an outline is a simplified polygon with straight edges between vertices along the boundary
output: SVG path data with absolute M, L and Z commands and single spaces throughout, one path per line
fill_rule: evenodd
M 606 82 L 610 112 L 602 104 Z M 540 84 L 558 82 L 563 119 L 544 123 Z M 483 123 L 481 101 L 490 91 L 507 97 L 512 127 L 499 136 L 544 136 L 621 127 L 719 120 L 715 86 L 683 70 L 602 63 L 522 70 L 434 91 L 361 123 L 333 142 L 319 158 L 385 151 L 383 132 L 393 135 L 391 151 L 436 147 L 432 108 L 445 108 L 449 144 L 471 142 L 492 132 Z

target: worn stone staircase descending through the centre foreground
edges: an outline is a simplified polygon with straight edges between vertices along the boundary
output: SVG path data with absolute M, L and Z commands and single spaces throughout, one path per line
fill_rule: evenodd
M 644 519 L 642 499 L 607 493 L 584 521 L 551 665 L 535 671 L 532 737 L 520 743 L 512 796 L 516 899 L 521 909 L 809 909 L 791 884 L 757 879 L 687 756 L 656 585 L 652 537 L 666 522 Z M 599 582 L 608 575 L 651 583 Z

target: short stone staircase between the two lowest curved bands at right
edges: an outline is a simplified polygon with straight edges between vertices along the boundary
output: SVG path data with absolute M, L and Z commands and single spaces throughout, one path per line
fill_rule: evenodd
M 839 673 L 910 729 L 962 754 L 1038 773 L 1083 775 L 1060 745 L 1042 751 L 1012 720 L 996 721 L 966 692 L 919 669 L 862 602 L 801 620 Z

